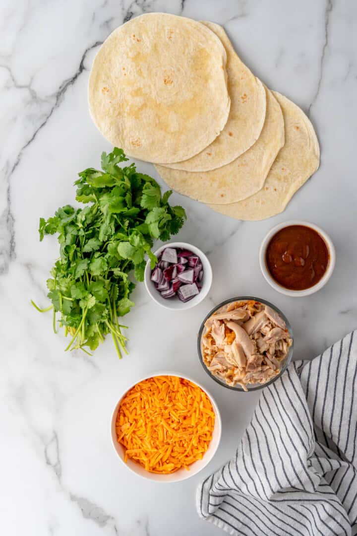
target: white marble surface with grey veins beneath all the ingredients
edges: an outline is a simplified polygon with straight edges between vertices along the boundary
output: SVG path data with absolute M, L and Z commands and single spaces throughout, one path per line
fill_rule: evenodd
M 63 352 L 29 300 L 45 303 L 57 242 L 40 244 L 40 216 L 71 203 L 75 175 L 97 166 L 109 144 L 90 121 L 86 85 L 99 44 L 123 20 L 170 11 L 223 24 L 238 53 L 269 87 L 306 110 L 316 126 L 318 173 L 285 213 L 239 222 L 178 195 L 188 222 L 179 240 L 209 255 L 209 297 L 184 314 L 159 308 L 143 285 L 134 294 L 130 355 L 108 340 L 87 358 Z M 227 297 L 253 294 L 282 308 L 295 357 L 313 358 L 356 327 L 357 4 L 354 0 L 3 0 L 0 5 L 0 519 L 7 536 L 209 536 L 195 512 L 201 477 L 229 458 L 257 394 L 220 388 L 195 348 L 200 321 Z M 140 169 L 156 176 L 153 166 Z M 292 299 L 263 280 L 257 251 L 280 221 L 305 219 L 330 233 L 335 273 L 320 293 Z M 183 483 L 154 485 L 129 473 L 112 450 L 109 421 L 118 394 L 140 375 L 171 368 L 214 393 L 222 444 L 206 470 Z

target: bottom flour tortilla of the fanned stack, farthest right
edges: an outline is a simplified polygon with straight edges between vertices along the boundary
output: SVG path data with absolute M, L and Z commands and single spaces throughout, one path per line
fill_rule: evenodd
M 320 165 L 320 147 L 303 111 L 280 93 L 273 92 L 283 110 L 285 145 L 271 167 L 263 188 L 253 196 L 211 209 L 238 220 L 263 220 L 283 212 L 286 205 Z

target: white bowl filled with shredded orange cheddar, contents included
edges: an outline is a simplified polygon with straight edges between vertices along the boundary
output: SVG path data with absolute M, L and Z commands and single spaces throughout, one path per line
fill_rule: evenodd
M 221 440 L 221 415 L 202 385 L 162 372 L 135 382 L 111 419 L 114 449 L 128 469 L 157 482 L 178 482 L 209 463 Z

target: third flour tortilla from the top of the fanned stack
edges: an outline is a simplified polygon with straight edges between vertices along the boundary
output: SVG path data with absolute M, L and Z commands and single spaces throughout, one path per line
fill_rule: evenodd
M 259 191 L 284 145 L 282 110 L 267 89 L 267 114 L 257 142 L 233 162 L 212 171 L 193 173 L 155 166 L 170 188 L 203 203 L 233 203 Z

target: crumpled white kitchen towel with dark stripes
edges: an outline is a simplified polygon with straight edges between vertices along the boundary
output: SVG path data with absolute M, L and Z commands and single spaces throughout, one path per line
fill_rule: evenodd
M 236 456 L 199 486 L 229 534 L 357 534 L 357 334 L 262 391 Z

